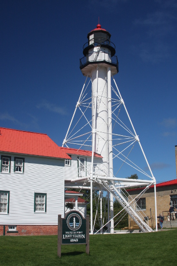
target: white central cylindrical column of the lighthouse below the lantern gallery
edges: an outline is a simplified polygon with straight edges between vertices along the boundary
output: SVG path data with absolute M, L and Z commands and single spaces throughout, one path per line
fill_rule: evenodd
M 109 175 L 109 154 L 108 154 L 108 85 L 107 68 L 99 65 L 98 68 L 98 94 L 96 104 L 97 68 L 92 71 L 92 125 L 96 119 L 95 153 L 101 154 L 103 164 L 101 175 Z M 95 106 L 97 110 L 95 112 Z M 95 118 L 96 113 L 96 118 Z

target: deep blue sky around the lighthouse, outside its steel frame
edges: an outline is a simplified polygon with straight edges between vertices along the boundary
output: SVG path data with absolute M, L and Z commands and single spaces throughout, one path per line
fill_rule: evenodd
M 82 47 L 100 17 L 153 174 L 157 182 L 176 178 L 176 11 L 173 0 L 2 0 L 0 125 L 47 133 L 62 145 L 85 80 Z

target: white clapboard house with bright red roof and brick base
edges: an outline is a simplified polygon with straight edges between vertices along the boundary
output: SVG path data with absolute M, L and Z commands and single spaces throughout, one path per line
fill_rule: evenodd
M 0 127 L 0 235 L 57 234 L 65 181 L 86 176 L 91 156 L 59 147 L 47 134 Z

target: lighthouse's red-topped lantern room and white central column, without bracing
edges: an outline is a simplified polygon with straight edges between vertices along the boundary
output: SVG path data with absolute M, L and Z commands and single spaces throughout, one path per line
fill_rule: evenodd
M 115 56 L 115 45 L 111 42 L 111 34 L 100 24 L 87 34 L 87 39 L 83 45 L 84 57 L 80 59 L 80 70 L 84 76 L 89 75 L 92 80 L 92 148 L 93 153 L 103 157 L 101 175 L 113 177 L 111 75 L 118 73 L 118 60 Z M 92 174 L 93 169 L 91 169 L 91 180 Z M 110 232 L 113 233 L 112 195 L 110 195 L 110 218 Z

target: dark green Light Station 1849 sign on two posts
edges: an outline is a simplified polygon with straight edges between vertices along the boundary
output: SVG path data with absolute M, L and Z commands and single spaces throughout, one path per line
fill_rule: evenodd
M 58 215 L 58 252 L 61 257 L 61 245 L 85 244 L 89 255 L 89 215 L 86 219 L 78 211 L 70 211 L 65 218 Z

